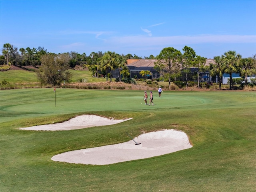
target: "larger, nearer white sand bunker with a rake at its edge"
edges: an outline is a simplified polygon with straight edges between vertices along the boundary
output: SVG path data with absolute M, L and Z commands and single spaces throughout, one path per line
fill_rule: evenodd
M 107 165 L 137 159 L 160 156 L 191 148 L 188 136 L 177 130 L 150 132 L 128 142 L 65 152 L 52 157 L 54 161 Z

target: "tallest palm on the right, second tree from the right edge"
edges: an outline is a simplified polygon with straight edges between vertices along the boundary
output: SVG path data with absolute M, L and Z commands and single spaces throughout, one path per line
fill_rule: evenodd
M 223 61 L 223 66 L 222 70 L 225 73 L 229 74 L 230 77 L 230 86 L 229 89 L 234 90 L 234 84 L 232 80 L 232 73 L 235 73 L 238 71 L 238 64 L 239 60 L 242 56 L 240 54 L 236 54 L 236 51 L 228 51 L 224 52 L 224 55 L 222 55 L 222 61 Z

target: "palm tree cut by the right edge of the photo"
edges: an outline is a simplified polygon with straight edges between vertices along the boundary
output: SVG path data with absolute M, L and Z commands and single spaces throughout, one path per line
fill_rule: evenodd
M 247 86 L 247 78 L 253 74 L 256 74 L 256 66 L 253 61 L 253 58 L 242 58 L 239 63 L 240 76 L 244 76 L 245 86 Z

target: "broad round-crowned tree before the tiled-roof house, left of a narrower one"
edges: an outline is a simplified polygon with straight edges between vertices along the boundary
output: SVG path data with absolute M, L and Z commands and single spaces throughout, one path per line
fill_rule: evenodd
M 168 47 L 164 48 L 157 56 L 158 61 L 155 63 L 154 68 L 168 77 L 169 89 L 171 87 L 171 77 L 180 70 L 179 58 L 181 55 L 179 50 Z

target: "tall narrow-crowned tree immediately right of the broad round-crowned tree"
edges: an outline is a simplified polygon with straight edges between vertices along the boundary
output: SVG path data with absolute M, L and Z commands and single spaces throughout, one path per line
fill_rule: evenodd
M 185 72 L 186 86 L 188 86 L 188 73 L 190 73 L 190 67 L 193 65 L 193 62 L 195 60 L 196 52 L 188 46 L 184 46 L 182 51 L 183 54 L 180 56 L 179 61 L 182 65 L 183 72 Z

